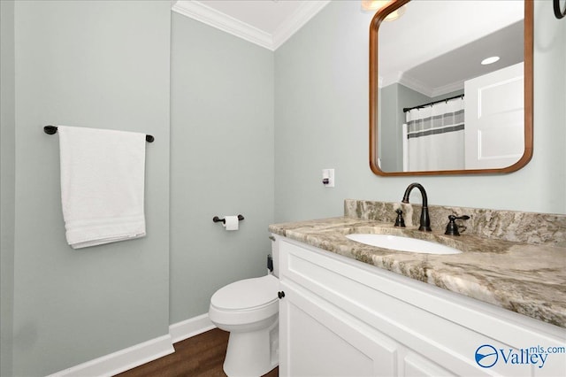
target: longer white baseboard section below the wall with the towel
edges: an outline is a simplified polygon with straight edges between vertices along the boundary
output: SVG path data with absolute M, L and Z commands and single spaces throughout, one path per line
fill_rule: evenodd
M 171 335 L 163 335 L 124 350 L 105 355 L 102 358 L 95 358 L 86 363 L 50 374 L 48 377 L 112 376 L 157 358 L 162 358 L 174 351 Z

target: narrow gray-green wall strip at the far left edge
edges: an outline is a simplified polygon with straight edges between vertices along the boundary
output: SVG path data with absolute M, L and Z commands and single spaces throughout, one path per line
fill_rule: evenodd
M 0 1 L 0 375 L 11 375 L 14 289 L 14 2 Z

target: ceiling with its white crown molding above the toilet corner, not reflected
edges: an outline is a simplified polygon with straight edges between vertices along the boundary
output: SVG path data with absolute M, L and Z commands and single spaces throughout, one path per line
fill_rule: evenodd
M 330 0 L 179 0 L 172 10 L 276 50 Z

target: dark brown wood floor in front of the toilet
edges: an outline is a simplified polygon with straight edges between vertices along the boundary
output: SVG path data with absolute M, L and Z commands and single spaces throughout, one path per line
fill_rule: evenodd
M 140 365 L 119 377 L 225 377 L 222 370 L 226 347 L 228 346 L 226 331 L 218 328 L 196 335 L 181 342 L 173 344 L 175 352 L 171 355 L 158 358 L 150 363 Z M 278 377 L 279 368 L 265 374 L 265 377 Z M 252 377 L 252 376 L 250 376 Z

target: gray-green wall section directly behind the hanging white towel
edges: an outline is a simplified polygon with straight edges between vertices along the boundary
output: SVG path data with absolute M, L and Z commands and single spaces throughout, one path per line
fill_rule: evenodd
M 54 373 L 168 334 L 170 6 L 15 4 L 14 375 Z M 147 237 L 66 244 L 58 137 L 43 133 L 46 124 L 156 137 Z

